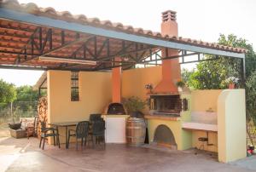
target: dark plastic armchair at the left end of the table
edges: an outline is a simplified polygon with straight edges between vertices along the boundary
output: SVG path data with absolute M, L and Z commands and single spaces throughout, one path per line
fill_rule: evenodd
M 56 146 L 56 144 L 55 144 L 55 137 L 56 137 L 56 139 L 57 139 L 57 144 L 58 144 L 59 148 L 61 148 L 58 129 L 55 129 L 55 128 L 47 128 L 47 127 L 46 127 L 46 123 L 43 122 L 43 121 L 41 121 L 40 123 L 41 123 L 41 135 L 40 135 L 41 138 L 40 138 L 39 147 L 41 147 L 42 140 L 44 139 L 43 147 L 42 147 L 42 149 L 44 150 L 45 138 L 47 138 L 47 137 L 54 137 L 54 145 Z

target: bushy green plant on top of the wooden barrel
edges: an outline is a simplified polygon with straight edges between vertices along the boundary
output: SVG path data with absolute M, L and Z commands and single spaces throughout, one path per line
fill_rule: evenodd
M 131 112 L 141 112 L 147 105 L 147 102 L 144 100 L 141 100 L 138 97 L 130 97 L 128 99 L 124 100 L 124 105 L 127 108 L 128 113 L 131 114 Z

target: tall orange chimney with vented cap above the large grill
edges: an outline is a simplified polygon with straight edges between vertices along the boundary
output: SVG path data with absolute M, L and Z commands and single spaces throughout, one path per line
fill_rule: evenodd
M 176 12 L 168 10 L 162 13 L 161 34 L 169 37 L 178 37 Z M 178 55 L 177 49 L 162 49 L 162 57 Z M 162 61 L 162 80 L 154 88 L 156 94 L 177 95 L 176 82 L 181 79 L 179 59 Z

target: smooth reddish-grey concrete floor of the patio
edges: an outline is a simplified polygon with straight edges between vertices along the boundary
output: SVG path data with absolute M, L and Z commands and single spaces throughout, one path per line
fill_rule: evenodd
M 171 151 L 152 147 L 128 147 L 108 144 L 79 151 L 55 146 L 38 148 L 38 139 L 0 138 L 0 171 L 184 171 L 184 172 L 249 172 L 256 171 L 256 158 L 243 159 L 238 163 L 218 163 L 216 157 L 206 153 Z M 246 163 L 244 163 L 244 162 Z M 248 169 L 251 168 L 251 169 Z M 254 170 L 252 168 L 255 168 Z

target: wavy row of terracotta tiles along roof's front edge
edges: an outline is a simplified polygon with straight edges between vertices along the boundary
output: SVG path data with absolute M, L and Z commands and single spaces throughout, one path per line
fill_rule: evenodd
M 170 40 L 177 43 L 187 43 L 191 45 L 207 47 L 210 49 L 220 49 L 236 53 L 246 53 L 246 49 L 234 48 L 229 46 L 220 45 L 218 43 L 207 43 L 201 40 L 195 40 L 183 37 L 172 37 L 169 35 L 162 35 L 160 32 L 152 32 L 142 28 L 134 28 L 133 26 L 124 26 L 122 23 L 113 23 L 110 20 L 99 20 L 98 18 L 87 18 L 84 14 L 74 15 L 68 11 L 58 12 L 54 8 L 40 8 L 35 3 L 18 3 L 16 0 L 2 0 L 1 7 L 7 9 L 15 9 L 16 11 L 35 14 L 40 16 L 49 17 L 57 20 L 65 20 L 67 22 L 75 22 L 82 25 L 90 25 L 115 30 L 119 32 L 127 32 L 131 34 L 143 35 L 145 37 L 157 37 L 160 39 Z

